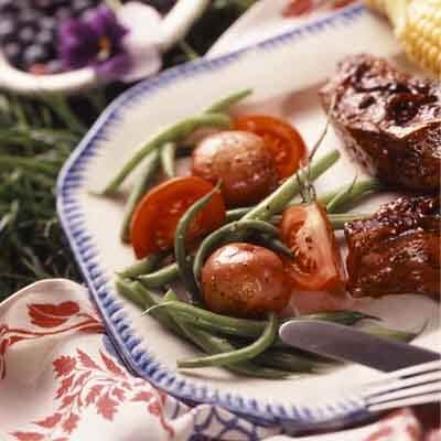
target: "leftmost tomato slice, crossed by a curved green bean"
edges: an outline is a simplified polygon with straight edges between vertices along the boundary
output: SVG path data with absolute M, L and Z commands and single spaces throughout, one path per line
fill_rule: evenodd
M 198 176 L 174 178 L 155 186 L 138 204 L 130 225 L 130 241 L 138 259 L 171 248 L 181 216 L 213 190 Z M 225 204 L 215 193 L 189 228 L 192 241 L 225 223 Z

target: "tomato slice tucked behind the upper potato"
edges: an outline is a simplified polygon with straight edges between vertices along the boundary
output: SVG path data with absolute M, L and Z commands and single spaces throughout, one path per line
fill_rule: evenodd
M 263 138 L 281 180 L 299 170 L 301 161 L 305 158 L 306 146 L 301 135 L 281 119 L 266 115 L 245 115 L 236 119 L 235 128 Z

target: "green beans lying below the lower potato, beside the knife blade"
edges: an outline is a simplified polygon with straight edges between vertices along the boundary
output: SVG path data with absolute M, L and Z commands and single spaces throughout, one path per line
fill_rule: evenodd
M 309 314 L 295 319 L 268 321 L 237 319 L 216 314 L 203 308 L 179 301 L 172 290 L 160 297 L 138 281 L 117 278 L 119 293 L 158 320 L 174 335 L 202 349 L 207 356 L 178 361 L 178 367 L 194 368 L 223 366 L 234 373 L 280 379 L 293 374 L 319 373 L 334 361 L 318 357 L 286 346 L 277 338 L 279 325 L 287 320 L 325 320 L 354 325 L 366 319 L 376 319 L 358 311 L 334 311 Z M 370 325 L 366 332 L 387 338 L 410 341 L 416 336 L 386 327 Z

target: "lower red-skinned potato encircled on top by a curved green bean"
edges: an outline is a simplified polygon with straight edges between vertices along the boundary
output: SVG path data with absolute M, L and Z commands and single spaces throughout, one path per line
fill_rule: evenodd
M 250 319 L 281 312 L 291 293 L 281 259 L 245 243 L 225 245 L 207 259 L 202 291 L 211 311 Z

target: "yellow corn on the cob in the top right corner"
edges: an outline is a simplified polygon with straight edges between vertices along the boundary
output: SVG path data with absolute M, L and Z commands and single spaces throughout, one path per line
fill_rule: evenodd
M 365 0 L 384 13 L 407 55 L 441 78 L 441 0 Z

